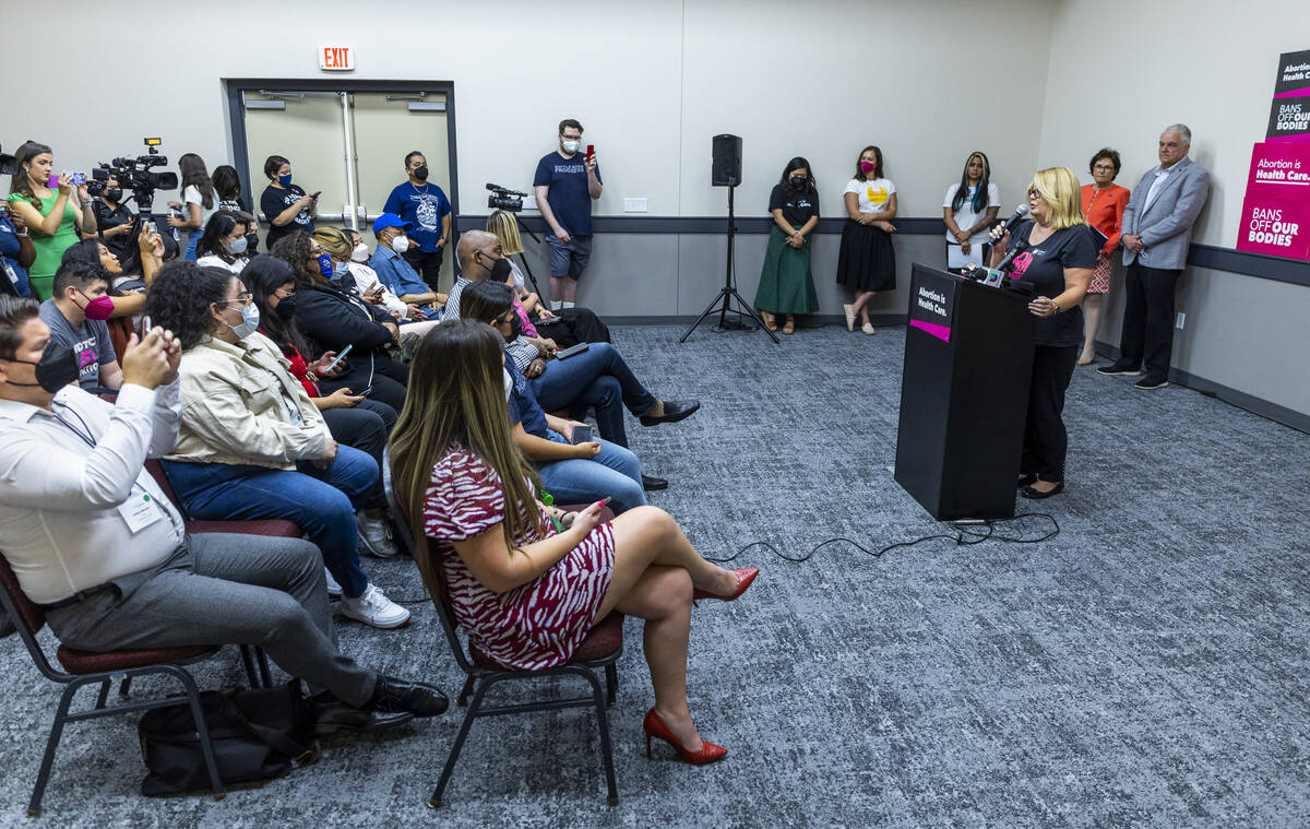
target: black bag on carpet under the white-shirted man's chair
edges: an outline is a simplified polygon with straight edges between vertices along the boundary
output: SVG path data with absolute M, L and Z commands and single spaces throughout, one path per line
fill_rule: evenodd
M 318 759 L 313 710 L 299 679 L 271 689 L 203 691 L 200 710 L 225 784 L 271 780 Z M 147 711 L 136 731 L 148 770 L 141 780 L 143 795 L 210 791 L 210 773 L 187 702 Z

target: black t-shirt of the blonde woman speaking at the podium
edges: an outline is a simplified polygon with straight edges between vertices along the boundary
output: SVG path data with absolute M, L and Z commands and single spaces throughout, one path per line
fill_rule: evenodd
M 1027 243 L 1032 233 L 1032 220 L 1019 223 L 1010 232 L 1010 245 Z M 1061 228 L 1014 257 L 1017 279 L 1036 286 L 1035 296 L 1055 299 L 1064 294 L 1065 268 L 1095 268 L 1100 248 L 1094 231 L 1086 224 Z M 1068 348 L 1082 344 L 1082 307 L 1069 308 L 1055 316 L 1038 320 L 1038 345 Z

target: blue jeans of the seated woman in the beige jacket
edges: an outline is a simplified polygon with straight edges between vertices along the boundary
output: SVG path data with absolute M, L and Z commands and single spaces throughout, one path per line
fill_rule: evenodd
M 231 463 L 164 462 L 169 483 L 191 518 L 210 521 L 295 521 L 324 555 L 324 564 L 355 598 L 368 588 L 359 567 L 355 510 L 377 481 L 377 462 L 350 446 L 337 447 L 326 470 L 301 460 L 297 471 Z

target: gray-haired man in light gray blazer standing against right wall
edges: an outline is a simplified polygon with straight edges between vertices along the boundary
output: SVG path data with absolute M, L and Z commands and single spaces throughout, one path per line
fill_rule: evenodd
M 1128 291 L 1119 362 L 1100 374 L 1146 376 L 1136 388 L 1169 386 L 1174 350 L 1174 286 L 1187 265 L 1192 223 L 1210 194 L 1210 173 L 1187 157 L 1192 131 L 1182 123 L 1159 136 L 1159 164 L 1146 171 L 1124 210 L 1124 265 Z

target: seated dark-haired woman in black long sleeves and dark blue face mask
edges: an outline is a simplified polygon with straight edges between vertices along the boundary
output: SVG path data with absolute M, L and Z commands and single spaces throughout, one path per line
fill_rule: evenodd
M 296 273 L 293 321 L 310 350 L 341 353 L 351 346 L 346 373 L 320 380 L 324 394 L 348 387 L 400 411 L 405 405 L 409 369 L 393 359 L 389 350 L 400 345 L 396 319 L 362 296 L 354 279 L 338 279 L 331 254 L 313 236 L 286 236 L 271 253 Z

